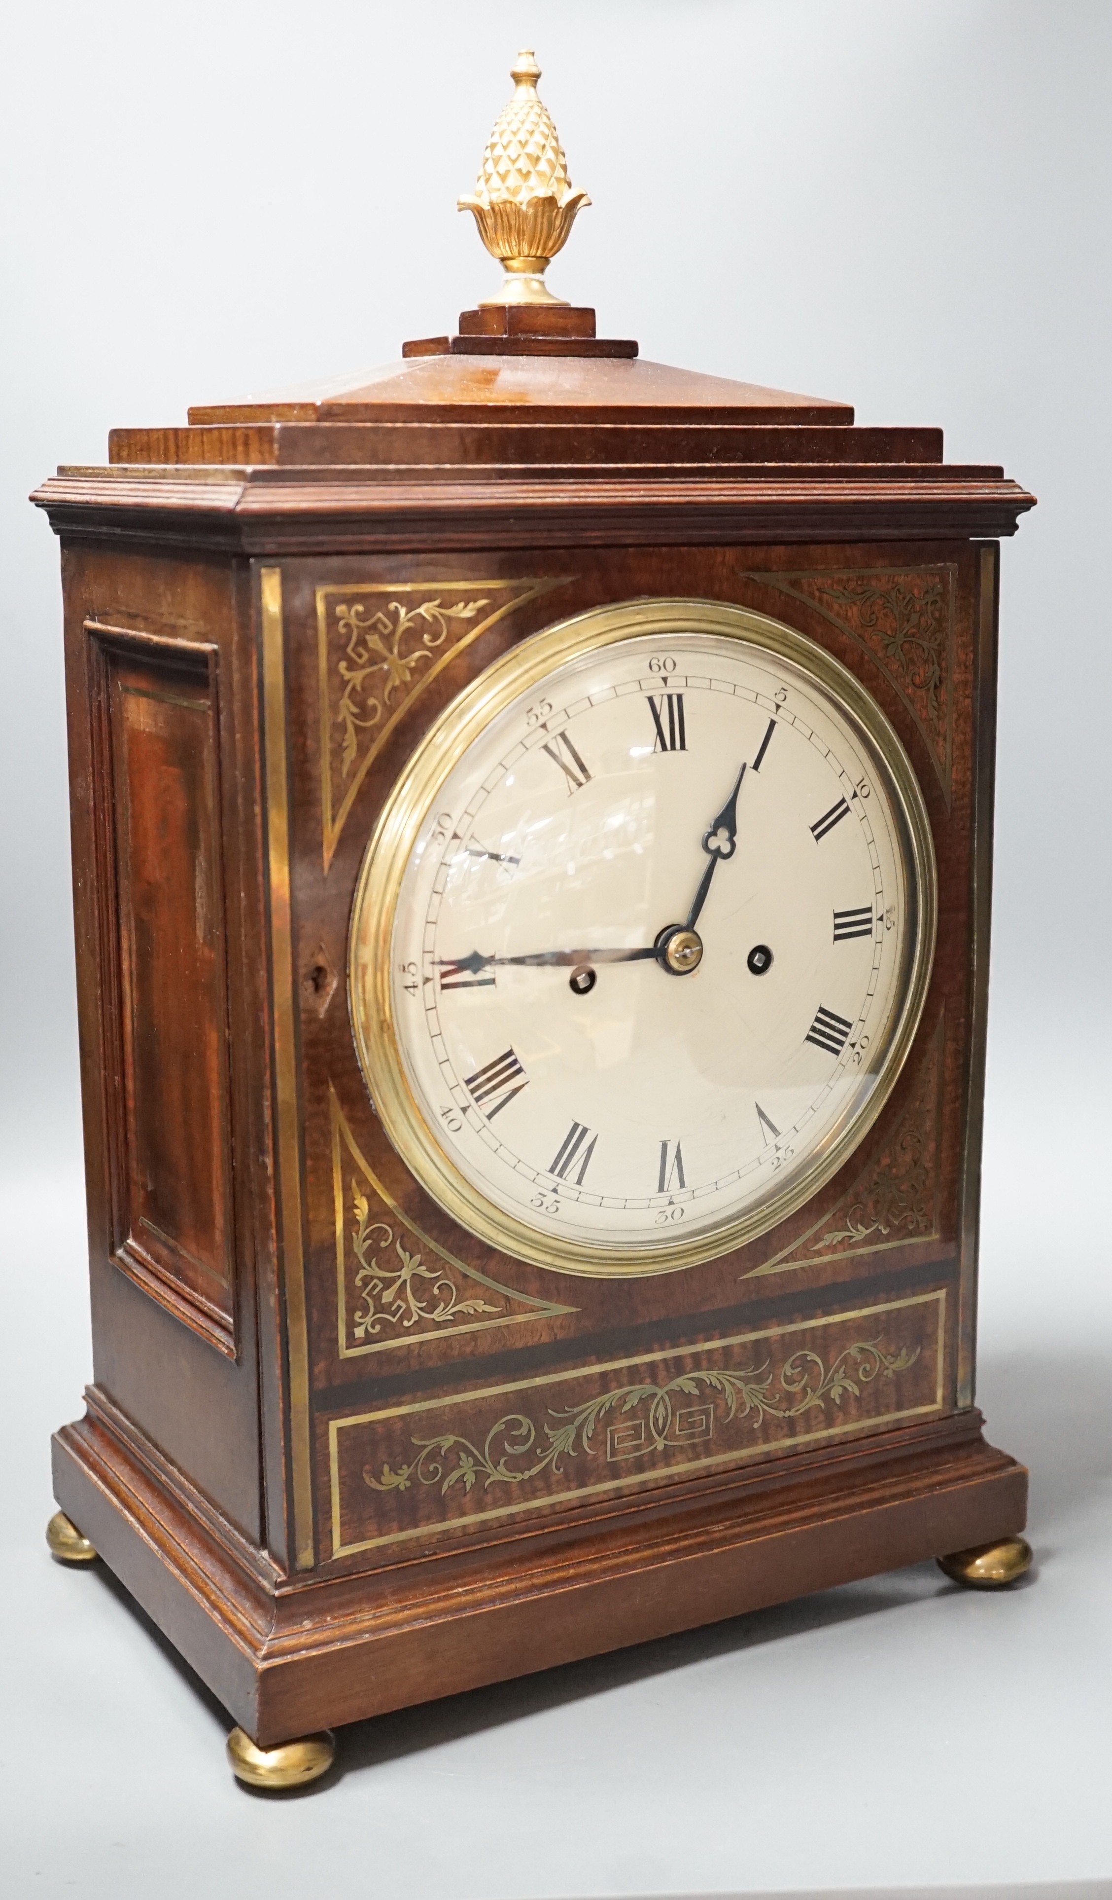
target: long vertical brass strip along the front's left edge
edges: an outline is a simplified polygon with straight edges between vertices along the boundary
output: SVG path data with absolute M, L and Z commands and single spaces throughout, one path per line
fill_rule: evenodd
M 309 1427 L 309 1328 L 298 1136 L 298 1030 L 290 902 L 290 804 L 281 568 L 260 570 L 262 720 L 266 739 L 266 828 L 269 944 L 273 965 L 273 1066 L 281 1256 L 290 1368 L 290 1459 L 294 1480 L 294 1564 L 313 1568 L 313 1454 Z

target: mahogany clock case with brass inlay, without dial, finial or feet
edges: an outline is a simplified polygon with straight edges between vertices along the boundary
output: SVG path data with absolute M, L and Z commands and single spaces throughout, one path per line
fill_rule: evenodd
M 321 403 L 118 431 L 36 496 L 95 1343 L 55 1490 L 260 1744 L 1025 1522 L 973 1332 L 996 538 L 1032 498 L 843 405 L 431 348 Z M 497 1254 L 417 1188 L 345 960 L 427 726 L 636 597 L 734 602 L 850 669 L 922 788 L 939 935 L 841 1172 L 731 1254 L 615 1281 Z

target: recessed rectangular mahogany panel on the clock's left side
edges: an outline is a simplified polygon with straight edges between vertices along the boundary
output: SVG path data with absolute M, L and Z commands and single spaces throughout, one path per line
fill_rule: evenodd
M 216 656 L 97 623 L 112 1254 L 233 1355 Z

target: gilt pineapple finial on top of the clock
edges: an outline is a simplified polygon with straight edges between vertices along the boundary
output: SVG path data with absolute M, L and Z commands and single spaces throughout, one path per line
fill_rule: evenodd
M 474 213 L 478 236 L 505 266 L 499 294 L 484 296 L 484 304 L 564 304 L 547 287 L 545 272 L 590 198 L 571 190 L 564 146 L 537 97 L 541 68 L 529 49 L 518 53 L 510 78 L 514 97 L 486 141 L 474 194 L 459 200 L 459 211 Z

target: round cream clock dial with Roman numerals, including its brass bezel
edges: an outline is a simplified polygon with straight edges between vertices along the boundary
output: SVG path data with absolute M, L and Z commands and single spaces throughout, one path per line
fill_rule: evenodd
M 666 1271 L 801 1205 L 922 1007 L 899 741 L 791 629 L 632 602 L 444 714 L 368 849 L 353 1022 L 423 1186 L 543 1265 Z

